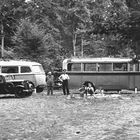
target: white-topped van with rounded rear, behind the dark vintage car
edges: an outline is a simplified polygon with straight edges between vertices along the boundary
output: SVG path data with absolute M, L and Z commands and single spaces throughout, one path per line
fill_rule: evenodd
M 46 75 L 40 63 L 25 60 L 0 61 L 0 73 L 11 75 L 13 79 L 32 81 L 36 92 L 42 92 L 46 86 Z

